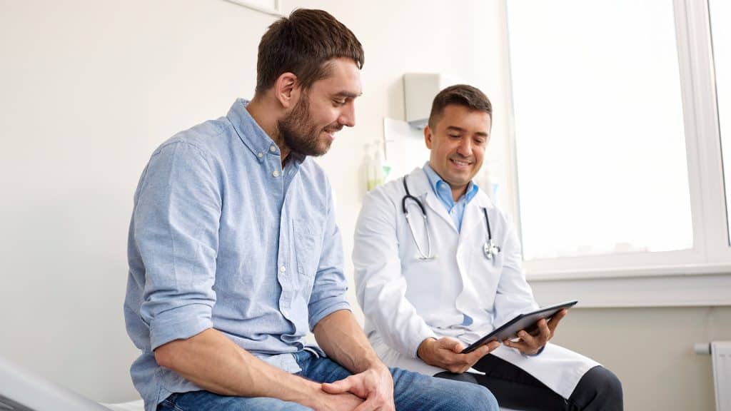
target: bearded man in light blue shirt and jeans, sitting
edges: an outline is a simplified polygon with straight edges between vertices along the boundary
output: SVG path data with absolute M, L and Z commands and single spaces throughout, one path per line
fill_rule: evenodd
M 146 411 L 496 410 L 485 388 L 387 369 L 349 311 L 330 184 L 307 157 L 355 125 L 362 66 L 349 29 L 297 10 L 262 37 L 254 99 L 152 155 L 124 304 Z

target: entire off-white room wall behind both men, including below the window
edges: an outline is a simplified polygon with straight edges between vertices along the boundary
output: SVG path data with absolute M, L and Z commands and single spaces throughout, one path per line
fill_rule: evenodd
M 488 155 L 503 162 L 501 0 L 282 2 L 332 12 L 366 50 L 357 126 L 319 160 L 346 256 L 363 146 L 384 117 L 404 118 L 404 72 L 482 88 L 495 105 Z M 0 355 L 94 399 L 135 397 L 121 306 L 137 178 L 167 137 L 251 96 L 273 20 L 222 0 L 0 0 Z M 710 360 L 689 344 L 728 330 L 725 308 L 577 309 L 556 338 L 618 373 L 627 410 L 712 410 Z

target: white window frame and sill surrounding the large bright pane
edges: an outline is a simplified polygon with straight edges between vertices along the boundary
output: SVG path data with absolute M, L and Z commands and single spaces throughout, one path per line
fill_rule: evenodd
M 512 195 L 507 197 L 506 206 L 515 217 L 518 233 L 522 233 L 507 0 L 502 1 L 501 10 L 504 12 L 504 50 L 507 55 L 504 69 L 510 85 L 507 89 L 509 173 L 505 184 Z M 731 304 L 731 293 L 720 293 L 724 289 L 731 290 L 731 246 L 708 1 L 674 0 L 673 11 L 693 248 L 525 261 L 526 277 L 538 298 L 546 295 L 550 301 L 560 301 L 582 295 L 583 306 Z M 731 174 L 731 169 L 728 172 Z M 602 287 L 597 289 L 599 284 Z M 647 290 L 652 290 L 652 293 Z

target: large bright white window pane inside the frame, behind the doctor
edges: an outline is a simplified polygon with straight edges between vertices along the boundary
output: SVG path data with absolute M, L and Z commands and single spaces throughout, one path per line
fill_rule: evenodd
M 692 249 L 673 4 L 508 12 L 526 260 Z

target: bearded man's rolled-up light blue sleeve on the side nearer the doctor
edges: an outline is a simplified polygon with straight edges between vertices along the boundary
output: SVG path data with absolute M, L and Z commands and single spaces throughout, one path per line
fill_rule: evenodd
M 351 310 L 345 293 L 348 283 L 343 272 L 343 246 L 335 221 L 332 195 L 328 190 L 328 211 L 314 287 L 308 303 L 309 327 L 314 330 L 320 320 L 341 309 Z

